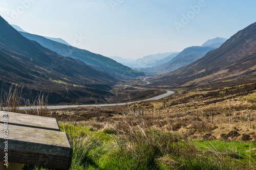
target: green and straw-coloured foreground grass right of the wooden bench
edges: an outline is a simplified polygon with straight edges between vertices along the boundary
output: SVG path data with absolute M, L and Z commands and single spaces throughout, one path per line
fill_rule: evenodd
M 256 142 L 190 140 L 136 124 L 60 124 L 74 149 L 71 169 L 255 169 Z M 44 169 L 47 168 L 25 168 Z

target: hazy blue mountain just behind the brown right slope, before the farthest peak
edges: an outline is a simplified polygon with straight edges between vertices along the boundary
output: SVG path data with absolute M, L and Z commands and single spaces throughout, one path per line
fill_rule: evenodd
M 179 69 L 200 59 L 211 50 L 214 50 L 214 48 L 209 46 L 191 46 L 185 48 L 181 53 L 179 53 L 169 62 L 159 65 L 156 71 L 158 74 L 162 74 L 168 71 Z

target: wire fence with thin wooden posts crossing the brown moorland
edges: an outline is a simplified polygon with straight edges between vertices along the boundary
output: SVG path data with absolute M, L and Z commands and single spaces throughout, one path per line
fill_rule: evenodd
M 126 112 L 123 112 L 127 114 Z M 252 123 L 256 120 L 256 110 L 189 110 L 189 109 L 172 109 L 167 111 L 162 110 L 146 110 L 146 109 L 133 109 L 132 114 L 138 115 L 150 115 L 158 119 L 186 119 L 196 122 L 208 122 L 211 124 L 238 124 L 248 123 L 248 126 L 252 128 Z

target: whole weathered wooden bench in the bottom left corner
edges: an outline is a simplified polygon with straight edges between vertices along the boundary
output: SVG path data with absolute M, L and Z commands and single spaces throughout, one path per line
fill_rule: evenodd
M 7 136 L 5 117 L 8 118 Z M 0 170 L 6 168 L 6 153 L 8 170 L 22 169 L 23 164 L 69 169 L 73 149 L 55 118 L 0 111 Z

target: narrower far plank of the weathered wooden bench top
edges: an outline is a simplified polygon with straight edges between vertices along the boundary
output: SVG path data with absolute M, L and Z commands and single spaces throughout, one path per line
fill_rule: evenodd
M 0 111 L 0 123 L 2 124 L 4 123 L 2 115 L 6 113 L 8 113 L 9 125 L 60 131 L 55 118 Z

